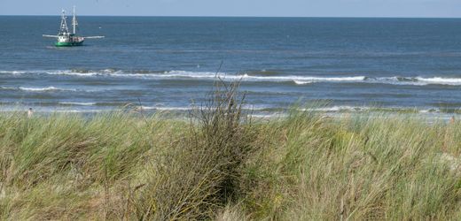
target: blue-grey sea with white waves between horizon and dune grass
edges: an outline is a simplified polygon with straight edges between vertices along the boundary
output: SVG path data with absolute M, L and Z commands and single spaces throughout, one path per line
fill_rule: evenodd
M 0 110 L 188 110 L 216 72 L 262 114 L 461 109 L 461 19 L 78 19 L 105 39 L 56 48 L 59 16 L 0 16 Z

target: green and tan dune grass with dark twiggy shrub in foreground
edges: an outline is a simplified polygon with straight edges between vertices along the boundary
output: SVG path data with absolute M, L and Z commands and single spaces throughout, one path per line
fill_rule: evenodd
M 187 120 L 0 114 L 0 218 L 460 220 L 461 124 L 250 118 L 238 85 Z

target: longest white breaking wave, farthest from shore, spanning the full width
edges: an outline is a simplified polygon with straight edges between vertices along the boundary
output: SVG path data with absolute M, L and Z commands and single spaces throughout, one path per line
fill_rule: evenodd
M 67 70 L 67 71 L 0 71 L 0 74 L 48 74 L 48 75 L 68 75 L 76 77 L 109 77 L 109 78 L 140 78 L 152 80 L 215 80 L 220 77 L 223 80 L 242 80 L 250 82 L 269 81 L 269 82 L 292 82 L 295 85 L 308 85 L 312 83 L 372 83 L 372 84 L 392 84 L 409 86 L 426 85 L 448 85 L 461 86 L 461 78 L 443 77 L 367 77 L 367 76 L 339 76 L 339 77 L 320 77 L 302 75 L 256 75 L 254 73 L 227 74 L 224 72 L 187 72 L 187 71 L 166 71 L 152 72 L 145 70 L 122 71 L 115 69 L 105 70 Z

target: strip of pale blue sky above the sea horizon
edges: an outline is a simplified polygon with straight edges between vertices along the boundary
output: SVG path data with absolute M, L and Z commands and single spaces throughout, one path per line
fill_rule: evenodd
M 0 0 L 0 15 L 461 17 L 461 0 Z

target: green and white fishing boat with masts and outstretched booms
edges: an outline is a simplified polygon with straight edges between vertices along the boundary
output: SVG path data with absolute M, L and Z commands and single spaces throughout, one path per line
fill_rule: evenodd
M 74 15 L 72 17 L 72 33 L 69 32 L 69 28 L 67 27 L 67 17 L 66 11 L 62 11 L 61 16 L 61 26 L 59 27 L 58 35 L 49 35 L 43 34 L 43 37 L 49 38 L 56 38 L 57 42 L 54 43 L 56 47 L 72 47 L 72 46 L 82 46 L 85 39 L 98 39 L 104 38 L 104 36 L 79 36 L 76 34 L 77 31 L 77 17 L 75 16 L 75 6 L 74 6 Z

